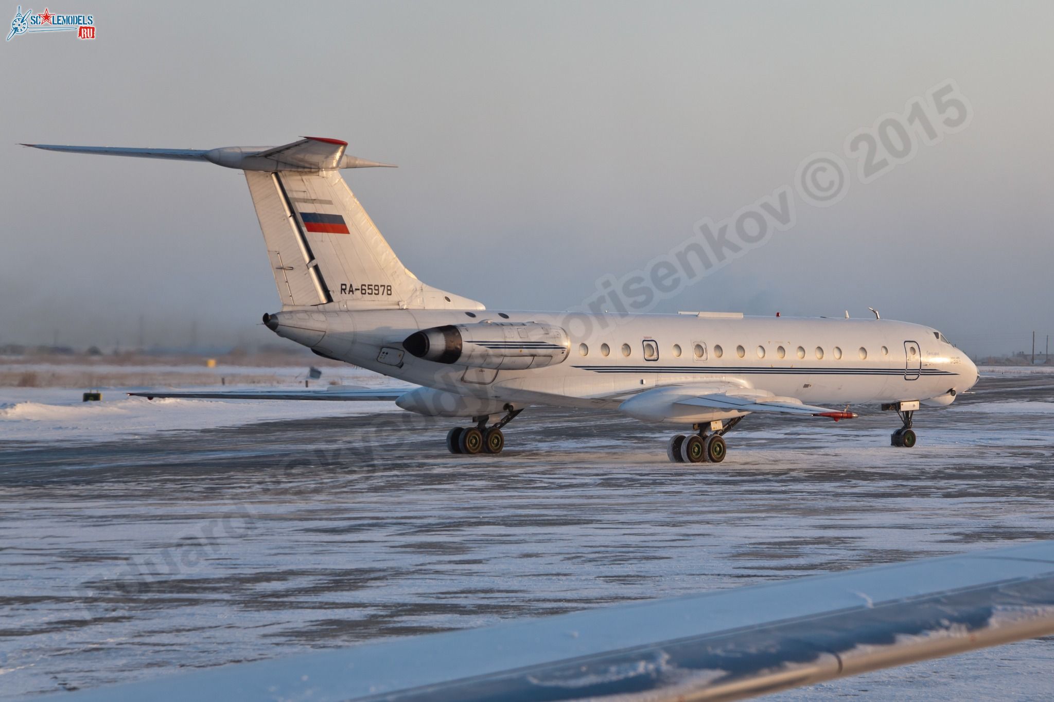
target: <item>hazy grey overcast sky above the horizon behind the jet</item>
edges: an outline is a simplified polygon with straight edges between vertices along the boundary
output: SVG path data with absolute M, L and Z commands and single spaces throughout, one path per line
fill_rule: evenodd
M 72 1 L 72 0 L 71 0 Z M 26 5 L 39 11 L 36 5 Z M 974 355 L 1054 333 L 1054 4 L 65 3 L 97 39 L 0 46 L 0 343 L 270 341 L 245 179 L 18 142 L 211 148 L 300 135 L 404 263 L 489 307 L 564 309 L 844 155 L 932 86 L 969 126 L 660 312 L 921 322 Z M 15 4 L 4 11 L 11 17 Z M 53 9 L 53 12 L 55 12 Z M 6 19 L 6 16 L 5 16 Z

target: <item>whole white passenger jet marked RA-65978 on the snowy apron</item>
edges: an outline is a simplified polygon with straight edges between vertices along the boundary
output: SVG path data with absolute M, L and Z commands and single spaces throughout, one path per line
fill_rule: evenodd
M 502 429 L 528 406 L 599 408 L 690 427 L 668 440 L 669 460 L 720 463 L 724 436 L 747 415 L 839 421 L 860 404 L 896 412 L 891 444 L 910 448 L 920 405 L 946 406 L 979 379 L 937 329 L 874 309 L 874 319 L 487 309 L 403 265 L 339 173 L 390 164 L 350 156 L 338 139 L 209 151 L 23 145 L 242 171 L 281 301 L 264 324 L 319 356 L 416 385 L 132 395 L 393 400 L 425 416 L 471 418 L 446 442 L 467 455 L 500 454 Z

